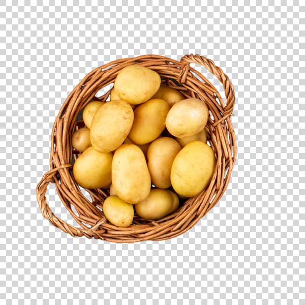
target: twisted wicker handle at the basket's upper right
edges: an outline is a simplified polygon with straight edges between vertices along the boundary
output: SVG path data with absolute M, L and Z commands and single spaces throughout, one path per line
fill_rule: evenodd
M 185 65 L 185 67 L 181 71 L 180 80 L 182 83 L 186 80 L 188 70 L 190 67 L 190 64 L 199 64 L 203 67 L 205 67 L 210 73 L 214 74 L 219 81 L 223 84 L 225 89 L 225 96 L 227 99 L 226 105 L 225 105 L 225 113 L 224 116 L 217 121 L 214 126 L 221 123 L 221 121 L 225 120 L 227 117 L 232 115 L 234 104 L 235 104 L 235 93 L 234 93 L 234 87 L 231 83 L 229 77 L 222 71 L 220 67 L 217 67 L 213 60 L 205 58 L 202 55 L 184 55 L 181 57 L 180 62 Z

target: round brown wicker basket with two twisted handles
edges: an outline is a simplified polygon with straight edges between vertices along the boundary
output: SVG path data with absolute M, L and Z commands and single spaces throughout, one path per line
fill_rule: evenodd
M 128 228 L 110 224 L 102 211 L 107 190 L 86 190 L 86 199 L 76 184 L 72 164 L 78 152 L 72 150 L 71 137 L 75 129 L 83 127 L 77 115 L 92 99 L 106 101 L 110 90 L 97 98 L 97 92 L 114 82 L 117 73 L 128 65 L 138 64 L 158 72 L 167 85 L 179 90 L 186 98 L 204 100 L 210 111 L 207 123 L 208 141 L 215 151 L 217 166 L 209 187 L 196 197 L 180 202 L 176 212 L 158 221 L 147 221 L 137 215 Z M 217 89 L 190 64 L 204 66 L 223 84 L 226 104 Z M 180 235 L 192 228 L 221 198 L 230 180 L 236 159 L 236 139 L 230 116 L 234 107 L 234 88 L 227 75 L 212 60 L 200 55 L 185 55 L 180 62 L 159 55 L 144 55 L 115 60 L 90 72 L 74 88 L 56 117 L 51 135 L 50 170 L 39 182 L 36 192 L 39 207 L 45 218 L 72 236 L 86 236 L 112 242 L 163 240 Z M 79 227 L 56 217 L 46 201 L 48 184 L 55 184 L 57 193 Z

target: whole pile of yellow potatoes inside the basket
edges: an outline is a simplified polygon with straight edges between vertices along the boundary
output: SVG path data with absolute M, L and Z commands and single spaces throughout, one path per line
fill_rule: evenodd
M 109 102 L 83 110 L 86 127 L 72 136 L 81 152 L 73 166 L 86 189 L 109 189 L 105 217 L 128 227 L 136 213 L 157 220 L 174 212 L 179 198 L 201 193 L 216 166 L 207 142 L 208 108 L 161 84 L 158 73 L 131 65 L 114 82 Z

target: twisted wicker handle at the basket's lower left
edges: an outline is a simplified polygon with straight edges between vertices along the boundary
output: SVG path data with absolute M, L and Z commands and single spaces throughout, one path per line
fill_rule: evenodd
M 84 230 L 82 228 L 76 228 L 73 225 L 68 224 L 62 219 L 58 218 L 51 210 L 49 205 L 47 204 L 46 192 L 50 182 L 54 183 L 54 176 L 57 174 L 59 170 L 72 167 L 71 164 L 62 164 L 56 168 L 53 168 L 46 172 L 39 184 L 36 187 L 36 195 L 37 201 L 39 204 L 39 208 L 42 212 L 44 218 L 46 218 L 54 227 L 59 228 L 60 230 L 69 233 L 70 235 L 81 237 L 85 235 L 86 237 L 91 238 L 93 235 L 99 235 L 94 230 Z

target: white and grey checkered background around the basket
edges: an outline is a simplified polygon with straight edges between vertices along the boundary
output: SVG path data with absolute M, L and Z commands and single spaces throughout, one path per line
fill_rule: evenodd
M 42 3 L 0 2 L 0 298 L 305 304 L 305 3 Z M 49 225 L 36 202 L 54 117 L 92 69 L 149 53 L 199 53 L 232 79 L 238 160 L 231 183 L 177 238 L 130 245 L 73 238 Z M 52 186 L 48 201 L 69 219 Z

